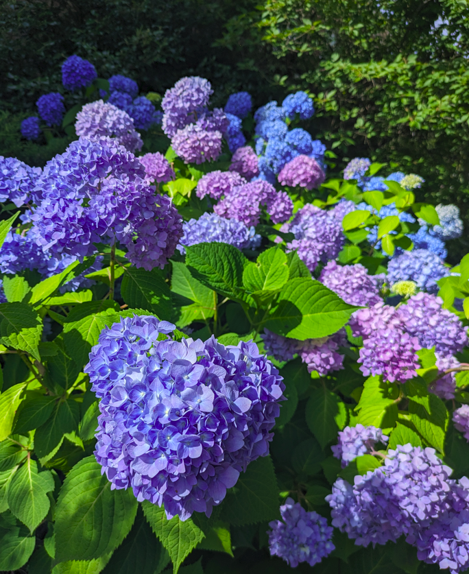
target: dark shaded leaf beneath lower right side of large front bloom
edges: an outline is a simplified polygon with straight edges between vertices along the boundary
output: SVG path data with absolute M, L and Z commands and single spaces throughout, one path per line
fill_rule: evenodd
M 272 459 L 261 457 L 248 465 L 228 491 L 220 518 L 242 526 L 274 520 L 279 516 L 278 487 Z

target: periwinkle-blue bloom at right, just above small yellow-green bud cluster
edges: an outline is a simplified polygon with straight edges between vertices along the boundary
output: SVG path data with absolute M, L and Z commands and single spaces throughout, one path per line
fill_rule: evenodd
M 427 249 L 406 251 L 391 259 L 387 265 L 387 280 L 390 285 L 411 280 L 429 293 L 438 291 L 437 280 L 449 274 L 442 259 Z

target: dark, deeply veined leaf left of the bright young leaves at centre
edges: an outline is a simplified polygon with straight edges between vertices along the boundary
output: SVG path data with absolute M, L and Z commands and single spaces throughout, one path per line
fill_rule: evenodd
M 237 298 L 248 260 L 227 243 L 198 243 L 186 248 L 186 264 L 191 274 L 217 293 Z

